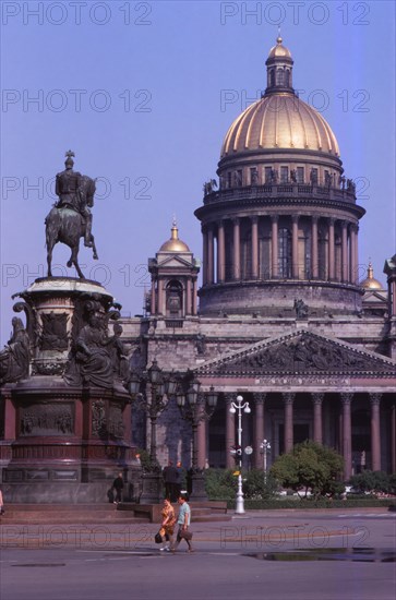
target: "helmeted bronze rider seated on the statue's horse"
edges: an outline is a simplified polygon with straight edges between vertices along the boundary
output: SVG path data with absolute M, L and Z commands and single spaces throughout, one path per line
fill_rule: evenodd
M 65 169 L 57 175 L 56 180 L 55 191 L 59 196 L 56 208 L 71 208 L 83 217 L 85 223 L 84 245 L 92 248 L 92 213 L 86 204 L 85 194 L 82 193 L 82 175 L 73 170 L 74 160 L 72 156 L 74 156 L 74 153 L 69 151 L 65 155 Z

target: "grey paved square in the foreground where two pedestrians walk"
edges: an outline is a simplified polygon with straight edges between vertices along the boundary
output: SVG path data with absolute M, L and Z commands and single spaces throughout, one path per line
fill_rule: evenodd
M 396 514 L 262 511 L 192 525 L 195 552 L 151 525 L 7 525 L 0 599 L 394 600 Z

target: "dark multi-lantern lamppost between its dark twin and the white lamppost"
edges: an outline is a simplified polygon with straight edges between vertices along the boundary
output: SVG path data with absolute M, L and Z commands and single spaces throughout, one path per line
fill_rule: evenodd
M 216 408 L 217 394 L 212 386 L 207 394 L 200 393 L 201 383 L 188 379 L 188 389 L 181 388 L 177 395 L 177 403 L 180 409 L 181 417 L 191 423 L 192 427 L 192 465 L 190 469 L 191 476 L 191 494 L 190 500 L 195 502 L 204 502 L 207 500 L 205 492 L 205 479 L 203 470 L 197 464 L 197 428 L 201 421 L 208 421 Z

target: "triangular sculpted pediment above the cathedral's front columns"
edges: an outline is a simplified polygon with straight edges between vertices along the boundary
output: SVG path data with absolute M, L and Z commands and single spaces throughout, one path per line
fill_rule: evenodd
M 396 362 L 339 339 L 305 329 L 259 341 L 196 369 L 197 376 L 349 375 L 396 376 Z

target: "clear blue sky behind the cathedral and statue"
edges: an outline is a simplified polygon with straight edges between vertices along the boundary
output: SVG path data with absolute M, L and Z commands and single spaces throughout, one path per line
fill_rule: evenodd
M 99 261 L 81 248 L 86 277 L 142 313 L 147 259 L 180 237 L 202 256 L 203 182 L 215 177 L 232 120 L 266 86 L 281 27 L 293 85 L 335 132 L 357 180 L 361 277 L 369 259 L 385 285 L 396 251 L 395 3 L 1 2 L 1 332 L 11 296 L 46 275 L 44 219 L 64 153 L 98 178 Z M 69 249 L 58 244 L 55 275 Z

